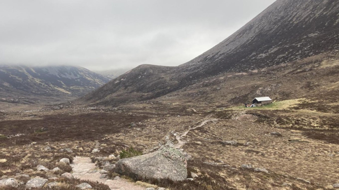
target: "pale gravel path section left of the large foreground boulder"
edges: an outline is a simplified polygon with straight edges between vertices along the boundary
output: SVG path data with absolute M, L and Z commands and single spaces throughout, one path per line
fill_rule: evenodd
M 75 157 L 74 164 L 71 164 L 73 168 L 73 176 L 81 180 L 89 180 L 93 182 L 103 183 L 109 186 L 112 190 L 145 190 L 144 187 L 136 186 L 125 179 L 119 180 L 107 180 L 100 179 L 99 171 L 95 172 L 95 163 L 92 163 L 89 157 Z

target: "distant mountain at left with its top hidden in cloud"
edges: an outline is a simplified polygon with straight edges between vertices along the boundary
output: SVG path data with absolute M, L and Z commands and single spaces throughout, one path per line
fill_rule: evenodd
M 78 97 L 104 85 L 109 80 L 82 67 L 2 65 L 0 66 L 0 95 Z

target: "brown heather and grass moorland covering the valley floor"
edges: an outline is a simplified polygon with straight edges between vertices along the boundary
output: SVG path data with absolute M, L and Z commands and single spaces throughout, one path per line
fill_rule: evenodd
M 117 108 L 59 105 L 2 111 L 0 176 L 16 178 L 22 189 L 36 178 L 47 180 L 43 189 L 52 182 L 68 189 L 81 183 L 114 189 L 117 182 L 136 189 L 333 189 L 339 183 L 338 113 L 335 106 L 306 112 L 306 102 L 312 103 L 298 99 L 259 108 L 202 109 L 149 101 Z M 308 115 L 314 122 L 297 120 Z M 187 160 L 190 180 L 137 181 L 115 171 L 100 179 L 104 165 L 116 164 L 121 151 L 133 147 L 148 153 L 175 146 L 193 158 Z M 80 157 L 87 157 L 89 173 L 72 170 L 71 165 L 81 164 Z M 71 165 L 60 163 L 63 158 Z M 53 171 L 56 167 L 60 170 Z M 78 178 L 67 179 L 61 175 L 65 172 Z M 29 177 L 22 179 L 22 174 Z M 115 182 L 116 176 L 122 181 Z

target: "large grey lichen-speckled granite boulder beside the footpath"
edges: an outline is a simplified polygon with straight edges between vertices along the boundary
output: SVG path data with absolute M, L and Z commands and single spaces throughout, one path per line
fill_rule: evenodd
M 187 161 L 181 151 L 163 148 L 158 151 L 119 160 L 115 172 L 136 180 L 171 179 L 182 181 L 187 177 Z

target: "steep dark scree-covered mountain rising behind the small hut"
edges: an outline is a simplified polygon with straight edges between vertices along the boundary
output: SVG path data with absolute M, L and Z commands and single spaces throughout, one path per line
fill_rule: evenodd
M 227 76 L 239 77 L 247 74 L 258 75 L 265 79 L 258 80 L 261 81 L 260 83 L 247 81 L 254 85 L 248 87 L 251 91 L 261 88 L 258 85 L 262 85 L 266 80 L 273 80 L 272 75 L 279 72 L 279 69 L 273 69 L 267 73 L 267 68 L 287 64 L 289 65 L 287 68 L 298 70 L 292 67 L 297 65 L 298 61 L 305 63 L 298 67 L 306 68 L 307 65 L 314 64 L 305 60 L 307 57 L 321 54 L 326 56 L 322 56 L 321 59 L 314 58 L 317 63 L 319 62 L 318 66 L 324 60 L 337 59 L 337 56 L 333 55 L 339 49 L 338 10 L 338 3 L 335 0 L 277 0 L 230 37 L 193 60 L 178 67 L 138 66 L 98 90 L 77 99 L 77 102 L 119 105 L 168 96 L 170 93 L 182 92 L 182 89 L 187 91 L 197 84 L 201 84 L 200 88 L 208 87 L 208 82 L 204 84 L 204 81 L 214 80 L 213 85 L 223 85 L 221 81 L 226 80 Z M 337 69 L 336 67 L 327 69 L 330 68 Z M 292 73 L 296 71 L 293 69 L 283 77 L 294 76 Z M 324 74 L 321 76 L 325 76 L 327 72 L 321 71 L 321 73 Z M 337 74 L 330 73 L 334 77 Z M 318 76 L 320 77 L 318 79 L 321 80 L 321 76 Z M 302 83 L 300 86 L 306 85 L 308 81 L 302 82 L 305 84 Z M 206 97 L 213 93 L 214 91 L 210 90 L 200 93 L 195 91 L 193 94 Z M 244 93 L 233 94 L 235 97 L 243 96 L 236 98 L 236 101 L 254 95 L 249 92 Z M 291 93 L 287 91 L 279 96 L 287 98 L 287 94 Z M 231 101 L 234 98 L 224 99 L 224 101 Z

